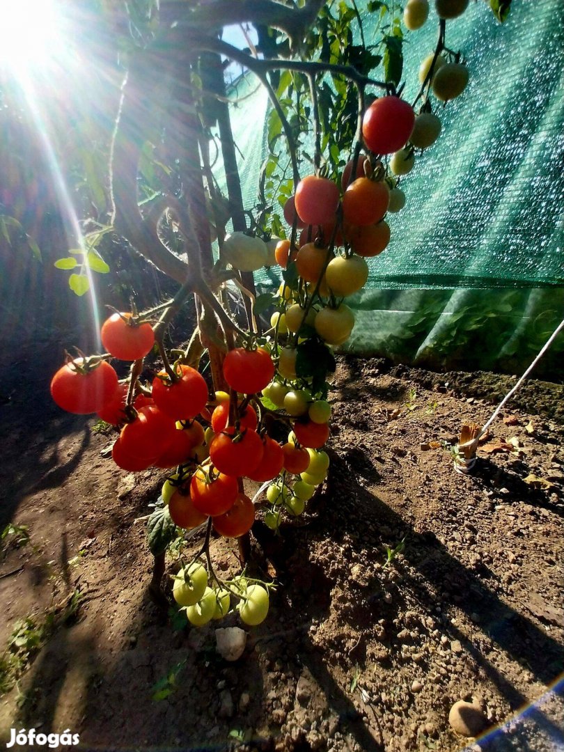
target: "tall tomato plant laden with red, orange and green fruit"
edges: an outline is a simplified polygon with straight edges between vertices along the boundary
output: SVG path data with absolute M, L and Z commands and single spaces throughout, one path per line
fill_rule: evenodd
M 448 20 L 468 0 L 435 0 L 438 41 L 414 81 L 402 80 L 406 34 L 429 23 L 428 0 L 408 0 L 403 11 L 389 3 L 362 8 L 378 11 L 377 38 L 330 49 L 326 40 L 338 41 L 351 25 L 364 39 L 356 4 L 328 4 L 316 17 L 314 3 L 298 8 L 263 0 L 270 25 L 253 55 L 218 30 L 230 20 L 252 23 L 256 4 L 218 2 L 172 4 L 174 23 L 162 26 L 157 14 L 144 26 L 142 14 L 131 14 L 135 4 L 126 4 L 138 50 L 113 129 L 111 192 L 107 201 L 84 202 L 111 206 L 112 224 L 101 227 L 98 214 L 85 218 L 95 229 L 83 238 L 82 268 L 69 284 L 85 293 L 92 277 L 85 271 L 107 272 L 100 254 L 113 232 L 178 287 L 174 297 L 140 314 L 136 301 L 135 314 L 109 317 L 100 332 L 108 352 L 86 358 L 79 351 L 54 375 L 51 393 L 63 409 L 98 412 L 116 426 L 118 467 L 168 470 L 147 524 L 160 569 L 177 527 L 207 520 L 202 550 L 182 563 L 172 587 L 190 623 L 223 617 L 234 598 L 241 620 L 253 626 L 265 618 L 273 586 L 245 576 L 221 581 L 211 558 L 212 529 L 239 538 L 244 560 L 255 517 L 284 533 L 284 520 L 303 514 L 326 478 L 329 456 L 322 447 L 330 432 L 334 348 L 355 326 L 343 299 L 365 287 L 390 243 L 390 215 L 405 205 L 406 176 L 420 168 L 415 152 L 440 137 L 435 110 L 468 83 L 469 66 L 446 44 Z M 190 34 L 194 28 L 198 33 Z M 190 59 L 183 49 L 190 49 Z M 302 59 L 293 59 L 300 53 Z M 162 55 L 178 86 L 163 87 L 154 76 Z M 220 68 L 212 71 L 206 62 L 209 55 L 256 74 L 271 102 L 254 204 L 242 197 L 224 106 L 229 97 Z M 148 122 L 144 108 L 162 103 L 168 88 L 166 96 L 182 91 L 186 101 L 155 106 L 162 122 Z M 58 265 L 71 270 L 79 262 L 69 257 Z M 257 295 L 253 272 L 264 267 L 272 286 Z M 196 326 L 187 332 L 178 314 L 191 295 Z M 121 383 L 112 357 L 132 363 Z M 244 493 L 247 480 L 272 481 L 256 505 Z

